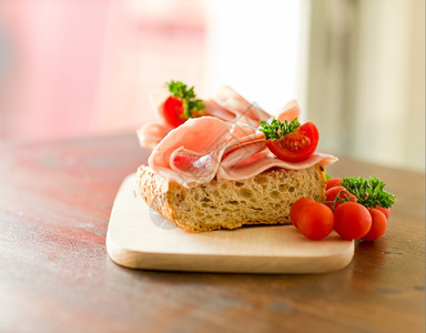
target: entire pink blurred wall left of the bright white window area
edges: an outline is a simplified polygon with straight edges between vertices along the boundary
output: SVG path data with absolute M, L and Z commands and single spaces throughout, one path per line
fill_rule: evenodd
M 0 140 L 133 131 L 155 120 L 148 95 L 165 81 L 200 91 L 204 2 L 0 1 L 11 54 L 0 72 Z

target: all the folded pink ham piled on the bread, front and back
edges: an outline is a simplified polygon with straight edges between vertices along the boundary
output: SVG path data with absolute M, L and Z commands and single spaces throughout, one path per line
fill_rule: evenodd
M 151 105 L 164 123 L 163 107 L 169 95 L 165 89 L 151 95 Z M 183 186 L 207 183 L 214 178 L 243 180 L 271 168 L 301 170 L 337 160 L 322 153 L 301 162 L 277 159 L 266 149 L 265 135 L 258 131 L 261 121 L 272 115 L 230 87 L 222 87 L 216 100 L 207 99 L 204 103 L 204 117 L 189 119 L 175 129 L 150 123 L 138 131 L 141 145 L 153 149 L 149 159 L 151 169 Z M 300 115 L 300 105 L 292 100 L 276 118 L 291 122 Z

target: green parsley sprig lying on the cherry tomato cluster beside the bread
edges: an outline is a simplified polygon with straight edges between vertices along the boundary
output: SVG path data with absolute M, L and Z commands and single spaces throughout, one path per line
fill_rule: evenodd
M 366 208 L 390 208 L 396 198 L 384 190 L 385 182 L 377 176 L 369 179 L 359 178 L 343 178 L 342 186 L 346 188 L 351 193 L 356 196 L 358 203 Z

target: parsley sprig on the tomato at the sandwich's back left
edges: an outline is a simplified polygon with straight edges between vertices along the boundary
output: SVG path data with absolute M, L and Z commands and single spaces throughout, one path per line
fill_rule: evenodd
M 182 100 L 183 114 L 186 119 L 193 118 L 193 112 L 204 113 L 205 104 L 202 100 L 195 98 L 194 87 L 187 89 L 187 85 L 181 81 L 170 81 L 166 83 L 169 91 L 173 97 Z

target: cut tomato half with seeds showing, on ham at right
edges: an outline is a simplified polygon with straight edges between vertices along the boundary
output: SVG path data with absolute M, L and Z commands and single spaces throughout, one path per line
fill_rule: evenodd
M 267 141 L 267 148 L 281 160 L 296 162 L 307 159 L 318 145 L 318 129 L 306 122 L 296 132 L 284 135 L 281 140 Z

